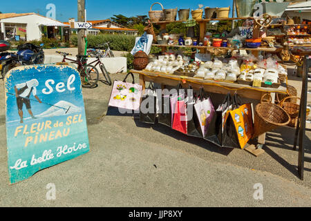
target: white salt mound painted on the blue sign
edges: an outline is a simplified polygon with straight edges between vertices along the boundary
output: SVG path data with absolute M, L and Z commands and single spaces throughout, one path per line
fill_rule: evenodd
M 68 112 L 66 113 L 67 110 Z M 74 104 L 71 104 L 70 102 L 60 101 L 54 104 L 54 106 L 51 106 L 50 108 L 48 108 L 48 110 L 44 111 L 44 113 L 36 115 L 36 117 L 55 117 L 55 116 L 62 116 L 62 115 L 70 115 L 72 113 L 76 113 L 79 111 L 82 111 L 82 108 L 79 108 L 75 106 Z

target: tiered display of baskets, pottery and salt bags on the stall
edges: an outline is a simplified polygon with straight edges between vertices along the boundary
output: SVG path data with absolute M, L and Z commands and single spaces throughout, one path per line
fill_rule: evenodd
M 263 42 L 265 29 L 270 27 L 272 17 L 263 15 L 260 18 L 229 18 L 228 8 L 203 9 L 168 9 L 149 11 L 149 26 L 160 25 L 160 34 L 153 46 L 162 47 L 162 55 L 153 56 L 144 68 L 149 72 L 167 73 L 185 77 L 196 77 L 207 80 L 227 81 L 258 88 L 279 88 L 286 81 L 287 70 L 274 57 L 265 57 L 265 52 L 276 52 L 276 47 Z M 177 20 L 177 13 L 179 19 Z M 191 13 L 191 19 L 189 15 Z M 216 33 L 209 21 L 243 20 L 245 27 L 238 27 L 232 32 Z M 184 22 L 187 37 L 183 34 L 167 33 L 168 23 Z M 153 24 L 153 25 L 151 25 Z M 194 36 L 194 26 L 199 26 L 199 36 Z M 234 32 L 236 31 L 236 32 Z M 214 33 L 212 33 L 214 32 Z M 263 46 L 261 46 L 263 45 Z M 176 49 L 177 48 L 177 49 Z M 191 48 L 182 50 L 183 48 Z M 263 52 L 263 55 L 259 53 Z

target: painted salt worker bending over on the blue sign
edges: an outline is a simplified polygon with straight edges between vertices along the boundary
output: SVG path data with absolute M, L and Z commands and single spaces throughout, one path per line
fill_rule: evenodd
M 14 86 L 15 96 L 17 97 L 17 108 L 19 109 L 19 117 L 21 117 L 21 123 L 23 123 L 23 104 L 25 104 L 26 109 L 32 119 L 36 119 L 36 117 L 32 114 L 31 105 L 30 105 L 30 95 L 35 97 L 37 101 L 41 104 L 41 100 L 37 96 L 37 88 L 39 85 L 37 79 L 31 79 L 30 81 L 26 81 L 25 83 L 16 84 Z

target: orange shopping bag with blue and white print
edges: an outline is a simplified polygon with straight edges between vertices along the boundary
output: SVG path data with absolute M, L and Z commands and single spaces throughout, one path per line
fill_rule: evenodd
M 243 149 L 253 135 L 252 104 L 241 105 L 238 95 L 234 95 L 234 100 L 236 108 L 230 111 L 231 131 L 235 135 L 238 146 Z

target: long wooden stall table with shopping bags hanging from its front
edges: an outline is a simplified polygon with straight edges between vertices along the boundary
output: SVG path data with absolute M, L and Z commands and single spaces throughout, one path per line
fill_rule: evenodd
M 279 88 L 254 88 L 252 86 L 243 84 L 200 79 L 195 77 L 184 77 L 179 75 L 169 75 L 165 73 L 155 73 L 147 70 L 130 70 L 130 73 L 139 75 L 140 85 L 142 85 L 143 90 L 146 88 L 146 81 L 162 84 L 162 87 L 165 85 L 177 86 L 178 83 L 182 83 L 183 88 L 188 88 L 190 84 L 194 90 L 204 88 L 205 91 L 210 93 L 226 95 L 228 92 L 230 92 L 232 95 L 234 95 L 234 93 L 237 92 L 241 97 L 256 99 L 259 101 L 265 93 L 271 93 L 272 102 L 274 102 L 275 93 L 286 93 L 287 90 L 284 86 L 280 86 Z M 265 134 L 258 137 L 258 144 L 260 148 L 263 146 L 263 144 L 265 144 Z

